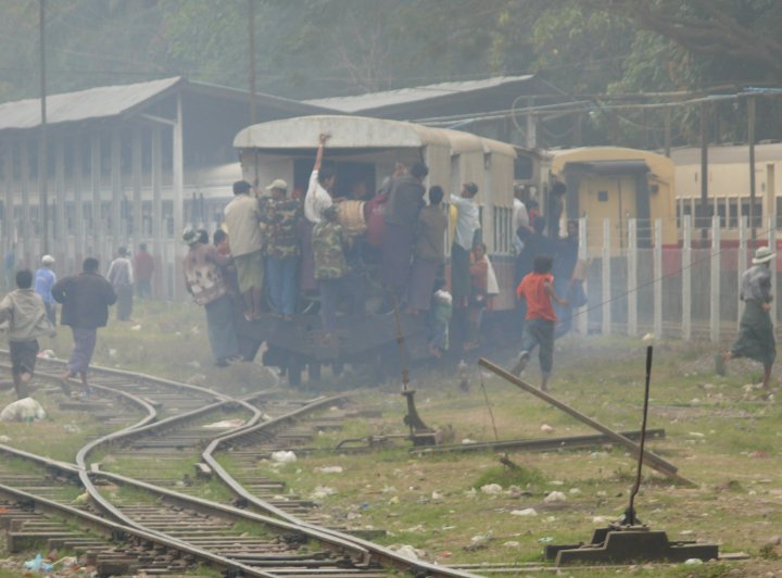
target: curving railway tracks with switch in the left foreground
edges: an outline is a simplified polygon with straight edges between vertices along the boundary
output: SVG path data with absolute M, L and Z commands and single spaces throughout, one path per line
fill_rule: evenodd
M 45 370 L 56 369 L 58 365 L 47 362 L 39 375 L 46 378 Z M 0 473 L 0 482 L 7 482 L 0 486 L 0 495 L 9 504 L 5 506 L 9 512 L 18 514 L 20 508 L 36 511 L 35 518 L 14 522 L 14 528 L 27 527 L 29 531 L 26 533 L 39 540 L 51 532 L 47 538 L 49 546 L 56 548 L 61 543 L 58 540 L 65 540 L 74 548 L 85 544 L 92 548 L 89 555 L 97 563 L 104 567 L 113 564 L 111 567 L 115 574 L 133 573 L 138 568 L 155 574 L 180 571 L 182 565 L 192 567 L 200 562 L 236 576 L 368 578 L 400 569 L 416 576 L 470 576 L 462 570 L 407 560 L 371 542 L 321 528 L 312 518 L 303 520 L 295 514 L 305 515 L 312 504 L 298 497 L 258 501 L 258 504 L 252 504 L 252 508 L 239 508 L 195 495 L 197 486 L 203 483 L 190 486 L 186 480 L 160 477 L 160 465 L 157 472 L 148 467 L 146 472 L 139 469 L 139 476 L 134 473 L 134 478 L 129 478 L 103 472 L 97 463 L 101 455 L 110 455 L 106 448 L 127 452 L 139 463 L 160 464 L 172 452 L 187 455 L 182 457 L 187 463 L 210 439 L 203 434 L 205 423 L 236 420 L 235 427 L 227 434 L 212 435 L 212 444 L 226 436 L 245 431 L 248 436 L 257 436 L 257 431 L 264 429 L 260 426 L 264 424 L 269 424 L 263 434 L 268 436 L 276 424 L 295 422 L 335 400 L 272 400 L 269 392 L 261 392 L 253 400 L 237 400 L 206 388 L 114 370 L 97 370 L 92 384 L 93 391 L 86 398 L 90 404 L 99 403 L 96 400 L 102 398 L 119 397 L 139 407 L 141 412 L 136 413 L 140 417 L 131 424 L 127 424 L 128 419 L 118 422 L 124 427 L 91 440 L 79 450 L 75 464 L 24 454 L 8 447 L 0 448 L 7 455 L 15 456 L 16 461 L 35 462 L 38 468 L 38 472 L 28 474 Z M 197 402 L 192 401 L 193 392 L 200 398 Z M 76 401 L 84 400 L 83 395 Z M 160 418 L 159 407 L 163 409 L 166 417 Z M 212 460 L 207 451 L 202 457 L 206 463 Z M 211 469 L 203 463 L 201 466 Z M 220 477 L 219 469 L 213 470 L 215 478 Z M 195 474 L 194 477 L 198 478 Z M 36 485 L 30 487 L 33 481 Z M 25 487 L 35 491 L 24 490 Z M 226 488 L 229 495 L 223 494 L 223 502 L 231 502 L 230 497 L 235 495 L 239 498 L 240 505 L 248 505 L 242 501 L 247 491 L 241 490 L 240 485 L 227 481 Z M 89 498 L 80 507 L 74 508 L 70 504 L 74 494 Z M 258 510 L 266 514 L 258 513 Z M 39 519 L 40 515 L 47 517 Z M 110 541 L 101 542 L 97 537 L 84 535 L 81 529 L 68 530 L 71 533 L 58 531 L 58 524 L 72 525 L 67 520 L 75 516 L 80 516 L 78 528 L 85 525 L 101 527 L 98 533 L 103 539 L 109 536 Z M 122 544 L 111 541 L 116 541 L 117 537 L 123 538 Z M 24 543 L 21 538 L 14 537 L 13 540 L 14 548 Z M 85 549 L 80 551 L 87 552 Z M 157 554 L 150 558 L 150 551 Z M 151 561 L 154 565 L 150 565 Z

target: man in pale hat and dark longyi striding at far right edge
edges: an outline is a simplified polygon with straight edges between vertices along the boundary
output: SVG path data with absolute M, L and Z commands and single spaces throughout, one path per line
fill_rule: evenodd
M 777 357 L 777 341 L 771 323 L 771 269 L 774 253 L 768 247 L 755 251 L 753 266 L 742 275 L 740 297 L 744 313 L 739 325 L 739 337 L 730 351 L 717 354 L 717 374 L 724 375 L 724 364 L 734 357 L 749 357 L 764 365 L 762 387 L 768 389 L 771 367 Z

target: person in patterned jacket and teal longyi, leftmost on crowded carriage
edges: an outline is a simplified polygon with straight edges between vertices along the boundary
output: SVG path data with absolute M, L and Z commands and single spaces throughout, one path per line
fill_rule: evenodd
M 215 365 L 226 367 L 239 359 L 234 303 L 223 277 L 223 267 L 230 264 L 231 256 L 220 254 L 209 242 L 201 242 L 199 231 L 191 227 L 182 231 L 182 241 L 189 247 L 182 263 L 185 287 L 193 302 L 206 312 L 206 332 Z

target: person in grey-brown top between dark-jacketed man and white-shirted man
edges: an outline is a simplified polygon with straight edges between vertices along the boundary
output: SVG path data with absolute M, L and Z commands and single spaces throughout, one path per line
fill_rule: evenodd
M 442 206 L 443 194 L 442 187 L 430 187 L 429 205 L 418 213 L 415 256 L 407 291 L 407 306 L 413 315 L 429 311 L 434 279 L 445 260 L 447 214 Z

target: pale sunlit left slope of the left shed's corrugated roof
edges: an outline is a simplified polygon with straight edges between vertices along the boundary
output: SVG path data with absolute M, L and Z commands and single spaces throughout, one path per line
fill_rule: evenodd
M 122 86 L 101 86 L 47 97 L 47 123 L 72 123 L 117 116 L 179 83 L 179 76 Z M 40 125 L 40 99 L 0 104 L 0 130 Z

